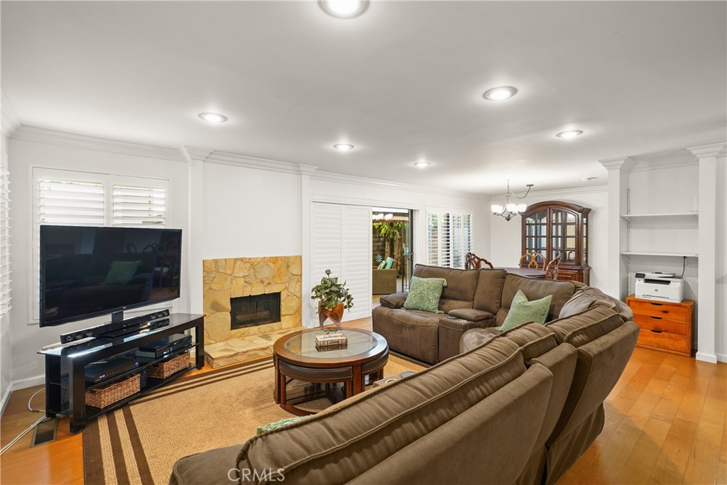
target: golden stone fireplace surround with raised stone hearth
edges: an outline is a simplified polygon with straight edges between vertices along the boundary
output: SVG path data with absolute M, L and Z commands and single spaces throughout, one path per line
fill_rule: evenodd
M 230 361 L 228 357 L 251 346 L 254 353 L 269 355 L 272 350 L 268 347 L 278 336 L 302 326 L 300 256 L 204 260 L 203 270 L 208 361 L 222 359 L 220 366 L 246 360 Z M 266 342 L 270 344 L 267 347 Z M 252 357 L 260 356 L 257 354 Z

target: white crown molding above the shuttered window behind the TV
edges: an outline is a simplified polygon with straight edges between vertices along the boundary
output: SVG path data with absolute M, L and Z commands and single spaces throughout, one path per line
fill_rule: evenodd
M 149 159 L 161 159 L 172 161 L 186 161 L 178 148 L 166 148 L 153 145 L 142 145 L 140 143 L 122 142 L 119 140 L 108 140 L 106 138 L 89 137 L 86 135 L 74 135 L 73 133 L 56 132 L 52 129 L 20 126 L 12 135 L 13 140 L 22 140 L 34 143 L 47 143 L 49 145 L 61 145 L 84 150 L 105 151 L 108 153 L 119 153 L 121 155 L 143 156 Z

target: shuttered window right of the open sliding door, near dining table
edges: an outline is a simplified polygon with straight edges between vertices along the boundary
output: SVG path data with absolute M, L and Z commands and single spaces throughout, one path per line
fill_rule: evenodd
M 428 263 L 445 268 L 464 268 L 465 254 L 472 251 L 472 215 L 462 212 L 427 212 Z

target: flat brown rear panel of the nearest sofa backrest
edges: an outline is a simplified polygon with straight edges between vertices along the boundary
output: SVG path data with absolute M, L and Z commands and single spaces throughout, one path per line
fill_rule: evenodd
M 551 380 L 545 367 L 531 366 L 521 377 L 348 484 L 515 483 L 542 428 Z

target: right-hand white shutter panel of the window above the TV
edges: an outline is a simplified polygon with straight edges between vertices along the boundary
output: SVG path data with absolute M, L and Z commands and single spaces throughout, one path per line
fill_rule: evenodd
M 113 186 L 114 227 L 164 228 L 166 191 L 158 187 Z

